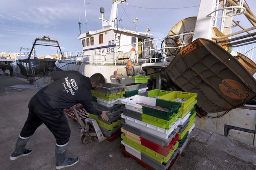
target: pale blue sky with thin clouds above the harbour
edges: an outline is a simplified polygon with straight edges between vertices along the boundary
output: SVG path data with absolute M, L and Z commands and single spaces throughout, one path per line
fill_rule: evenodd
M 246 2 L 256 14 L 256 1 Z M 112 0 L 85 0 L 85 3 L 87 31 L 101 29 L 99 8 L 105 8 L 104 18 L 109 20 Z M 138 31 L 151 28 L 154 38 L 162 38 L 180 20 L 197 16 L 199 5 L 200 0 L 127 0 L 119 5 L 118 19 L 122 19 L 123 28 L 135 30 L 133 20 L 138 18 Z M 238 20 L 245 28 L 252 27 L 245 17 L 239 16 Z M 32 40 L 43 36 L 58 40 L 62 51 L 81 51 L 81 41 L 77 39 L 79 21 L 84 33 L 84 0 L 0 0 L 0 51 L 19 53 L 20 47 L 32 48 Z M 247 49 L 252 47 L 248 45 Z M 244 47 L 237 50 L 244 51 Z M 38 56 L 54 55 L 57 50 L 38 46 L 36 53 Z

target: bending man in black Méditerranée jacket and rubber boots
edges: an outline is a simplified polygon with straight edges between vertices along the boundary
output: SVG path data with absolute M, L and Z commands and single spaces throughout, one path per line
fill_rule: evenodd
M 10 159 L 15 160 L 32 152 L 32 149 L 25 148 L 26 143 L 44 123 L 56 139 L 56 168 L 61 169 L 79 161 L 77 157 L 66 157 L 70 127 L 63 109 L 80 102 L 88 113 L 99 114 L 103 120 L 108 121 L 108 111 L 93 108 L 90 93 L 91 89 L 100 88 L 105 78 L 99 73 L 90 78 L 85 77 L 78 71 L 53 71 L 51 76 L 54 82 L 38 91 L 29 102 L 29 115 Z

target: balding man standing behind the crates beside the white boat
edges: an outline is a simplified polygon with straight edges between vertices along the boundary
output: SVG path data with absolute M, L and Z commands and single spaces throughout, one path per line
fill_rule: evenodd
M 127 61 L 126 67 L 119 68 L 116 71 L 114 71 L 114 77 L 116 79 L 119 78 L 118 74 L 120 74 L 122 76 L 135 76 L 137 74 L 142 74 L 143 76 L 146 75 L 145 71 L 143 71 L 140 67 L 133 66 L 133 63 L 131 62 L 131 60 Z

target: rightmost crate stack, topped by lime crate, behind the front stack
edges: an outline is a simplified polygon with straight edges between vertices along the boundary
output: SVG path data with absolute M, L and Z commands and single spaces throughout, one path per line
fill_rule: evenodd
M 180 130 L 179 134 L 179 146 L 178 146 L 178 153 L 181 153 L 186 146 L 187 142 L 190 139 L 191 132 L 195 127 L 195 109 L 196 109 L 196 102 L 195 99 L 198 94 L 196 93 L 186 93 L 182 91 L 172 91 L 169 94 L 163 95 L 158 97 L 158 99 L 163 99 L 166 101 L 177 102 L 181 104 L 180 107 L 180 116 L 179 121 Z

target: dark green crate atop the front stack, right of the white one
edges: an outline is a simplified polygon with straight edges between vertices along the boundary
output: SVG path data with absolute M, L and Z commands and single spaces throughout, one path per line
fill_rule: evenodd
M 157 108 L 151 108 L 147 106 L 142 106 L 142 113 L 154 116 L 160 119 L 170 120 L 173 113 L 178 113 L 181 104 L 177 102 L 170 102 L 167 100 L 156 99 L 156 105 L 162 108 L 168 108 L 169 111 L 163 111 Z

